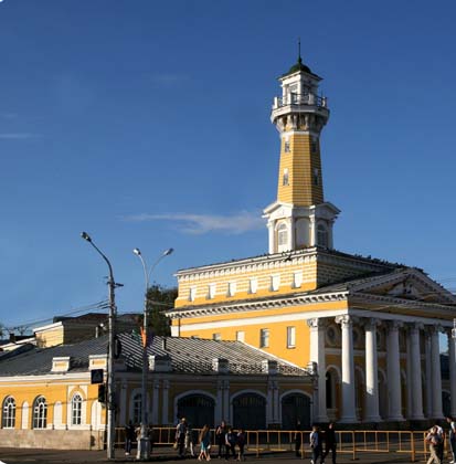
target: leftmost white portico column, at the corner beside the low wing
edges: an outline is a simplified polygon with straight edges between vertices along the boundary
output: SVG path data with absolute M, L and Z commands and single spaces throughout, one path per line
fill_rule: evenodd
M 310 361 L 317 365 L 318 373 L 318 401 L 316 404 L 315 422 L 329 422 L 326 411 L 326 352 L 325 337 L 326 325 L 325 319 L 315 318 L 307 320 L 310 327 Z

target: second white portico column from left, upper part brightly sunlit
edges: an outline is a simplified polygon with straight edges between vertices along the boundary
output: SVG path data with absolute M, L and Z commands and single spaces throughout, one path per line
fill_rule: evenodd
M 342 412 L 339 422 L 358 422 L 354 403 L 353 318 L 348 314 L 336 317 L 342 331 Z

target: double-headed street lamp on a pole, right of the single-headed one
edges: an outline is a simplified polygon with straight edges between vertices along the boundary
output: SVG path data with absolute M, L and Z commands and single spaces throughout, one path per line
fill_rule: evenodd
M 147 271 L 146 261 L 139 249 L 135 249 L 132 252 L 141 260 L 142 271 L 145 275 L 145 302 L 144 302 L 144 320 L 142 320 L 142 378 L 141 378 L 141 434 L 138 443 L 138 460 L 148 460 L 150 457 L 150 443 L 148 434 L 149 420 L 147 416 L 147 372 L 148 372 L 148 360 L 147 360 L 147 340 L 148 340 L 148 328 L 147 328 L 147 293 L 150 286 L 150 275 L 157 264 L 165 257 L 169 256 L 174 250 L 168 249 L 156 260 L 150 266 L 149 272 Z

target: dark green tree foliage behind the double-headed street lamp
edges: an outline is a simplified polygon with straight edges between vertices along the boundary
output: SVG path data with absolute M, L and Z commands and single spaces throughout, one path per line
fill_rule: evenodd
M 151 285 L 147 292 L 147 312 L 149 315 L 148 326 L 155 335 L 171 335 L 169 320 L 163 312 L 174 307 L 174 299 L 178 297 L 178 289 Z

